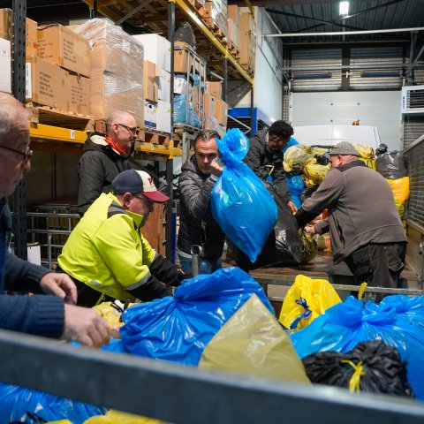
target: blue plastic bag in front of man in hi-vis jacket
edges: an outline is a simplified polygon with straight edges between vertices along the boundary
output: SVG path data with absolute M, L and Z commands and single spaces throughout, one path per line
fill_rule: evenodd
M 239 268 L 194 276 L 173 297 L 126 309 L 122 343 L 135 355 L 197 366 L 209 340 L 252 294 L 274 314 L 261 285 Z

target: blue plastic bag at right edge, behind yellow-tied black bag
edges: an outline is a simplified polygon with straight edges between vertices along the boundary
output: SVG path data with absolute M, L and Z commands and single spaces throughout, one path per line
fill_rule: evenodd
M 419 322 L 424 315 L 424 298 L 390 298 L 398 296 L 385 298 L 382 307 L 375 302 L 367 302 L 364 307 L 362 300 L 352 296 L 330 307 L 305 329 L 291 335 L 299 357 L 315 352 L 346 353 L 360 342 L 382 340 L 398 349 L 401 359 L 407 362 L 407 377 L 416 398 L 424 400 L 424 326 Z

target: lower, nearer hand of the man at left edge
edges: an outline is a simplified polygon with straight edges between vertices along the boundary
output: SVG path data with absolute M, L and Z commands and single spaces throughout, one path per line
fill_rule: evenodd
M 64 340 L 101 347 L 110 341 L 113 329 L 93 309 L 64 305 Z

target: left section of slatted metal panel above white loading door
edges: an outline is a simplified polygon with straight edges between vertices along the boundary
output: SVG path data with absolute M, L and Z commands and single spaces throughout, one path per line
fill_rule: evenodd
M 293 74 L 328 72 L 331 67 L 340 68 L 342 64 L 342 49 L 293 49 Z M 342 72 L 331 70 L 328 79 L 296 79 L 292 80 L 293 92 L 305 91 L 337 91 L 342 87 Z

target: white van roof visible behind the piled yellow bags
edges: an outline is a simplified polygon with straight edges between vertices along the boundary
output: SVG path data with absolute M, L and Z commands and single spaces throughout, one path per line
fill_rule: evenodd
M 307 125 L 295 126 L 293 130 L 293 137 L 307 146 L 329 148 L 339 141 L 349 141 L 352 144 L 366 144 L 375 151 L 381 143 L 376 126 Z

